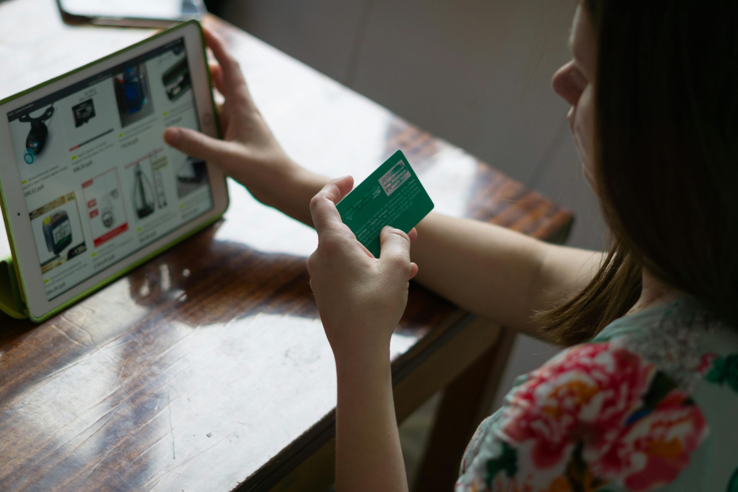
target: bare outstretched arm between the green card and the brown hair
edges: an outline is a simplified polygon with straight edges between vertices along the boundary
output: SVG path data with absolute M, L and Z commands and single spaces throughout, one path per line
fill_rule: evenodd
M 534 336 L 538 326 L 531 315 L 586 285 L 601 257 L 433 213 L 416 229 L 416 281 L 472 313 Z

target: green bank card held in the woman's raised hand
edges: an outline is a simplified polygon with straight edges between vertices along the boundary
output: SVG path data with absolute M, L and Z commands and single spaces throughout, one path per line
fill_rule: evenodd
M 433 202 L 398 150 L 339 201 L 336 208 L 356 239 L 379 258 L 382 227 L 410 232 L 433 209 Z

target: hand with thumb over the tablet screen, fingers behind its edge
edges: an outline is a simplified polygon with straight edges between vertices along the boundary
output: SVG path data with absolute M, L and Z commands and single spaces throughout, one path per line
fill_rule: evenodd
M 190 128 L 172 127 L 164 133 L 165 142 L 188 156 L 211 162 L 244 184 L 258 201 L 272 207 L 284 179 L 301 170 L 284 153 L 272 131 L 254 105 L 241 74 L 238 61 L 224 40 L 204 28 L 205 42 L 213 50 L 218 64 L 210 66 L 215 89 L 225 97 L 220 110 L 223 140 Z M 304 204 L 308 207 L 308 202 Z

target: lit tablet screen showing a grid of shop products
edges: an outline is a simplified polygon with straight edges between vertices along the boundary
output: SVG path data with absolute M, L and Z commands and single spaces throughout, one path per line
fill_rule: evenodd
M 205 162 L 162 139 L 199 130 L 184 38 L 7 118 L 49 300 L 213 209 Z

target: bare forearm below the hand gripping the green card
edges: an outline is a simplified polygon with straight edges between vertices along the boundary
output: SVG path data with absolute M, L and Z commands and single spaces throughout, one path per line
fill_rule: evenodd
M 336 491 L 407 491 L 387 353 L 336 368 Z

